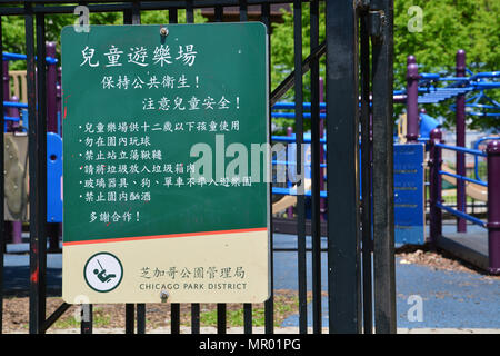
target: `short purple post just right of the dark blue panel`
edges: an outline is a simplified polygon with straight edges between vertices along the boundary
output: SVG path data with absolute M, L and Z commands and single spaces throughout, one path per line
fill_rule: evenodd
M 442 211 L 437 205 L 441 202 L 441 148 L 436 144 L 440 144 L 442 138 L 441 130 L 439 128 L 433 129 L 430 132 L 430 159 L 429 159 L 429 230 L 430 243 L 436 248 L 438 238 L 442 234 Z

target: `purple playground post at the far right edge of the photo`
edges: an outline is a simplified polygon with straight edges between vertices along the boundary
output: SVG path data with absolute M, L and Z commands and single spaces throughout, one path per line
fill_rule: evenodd
M 488 154 L 488 255 L 489 271 L 500 274 L 500 140 L 491 140 Z

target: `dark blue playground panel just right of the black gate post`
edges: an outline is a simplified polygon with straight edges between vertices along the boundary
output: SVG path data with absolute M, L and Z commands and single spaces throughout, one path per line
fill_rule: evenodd
M 423 144 L 394 145 L 394 243 L 424 244 Z

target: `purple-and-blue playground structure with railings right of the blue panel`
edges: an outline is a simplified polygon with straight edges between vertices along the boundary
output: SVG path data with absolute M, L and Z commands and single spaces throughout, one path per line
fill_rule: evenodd
M 500 72 L 472 73 L 466 68 L 466 52 L 457 52 L 457 75 L 439 76 L 418 73 L 416 59 L 408 58 L 408 87 L 402 95 L 407 103 L 407 140 L 416 142 L 419 138 L 418 105 L 438 103 L 454 98 L 450 109 L 456 112 L 456 145 L 444 145 L 439 127 L 430 132 L 429 148 L 429 191 L 430 191 L 430 243 L 488 270 L 500 273 L 500 230 L 499 230 L 499 178 L 498 155 L 499 137 L 486 136 L 479 139 L 474 149 L 466 147 L 466 116 L 486 116 L 500 119 L 500 105 L 488 97 L 484 91 L 500 88 Z M 469 73 L 469 77 L 466 77 Z M 419 96 L 419 93 L 421 93 Z M 473 96 L 466 100 L 466 95 Z M 394 100 L 396 101 L 396 100 Z M 486 103 L 484 103 L 486 101 Z M 486 150 L 479 150 L 479 144 Z M 456 152 L 456 171 L 442 162 L 442 150 Z M 474 176 L 467 175 L 466 156 L 474 157 Z M 478 174 L 478 157 L 487 159 L 488 181 L 483 181 Z M 442 180 L 457 186 L 457 208 L 446 205 L 442 200 Z M 467 197 L 487 201 L 487 220 L 483 221 L 467 209 Z M 457 218 L 457 234 L 442 230 L 442 210 Z M 483 233 L 467 234 L 467 221 L 484 228 Z

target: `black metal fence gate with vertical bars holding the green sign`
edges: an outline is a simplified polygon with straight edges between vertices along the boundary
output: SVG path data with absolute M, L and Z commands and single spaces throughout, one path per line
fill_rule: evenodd
M 29 117 L 29 236 L 30 289 L 29 332 L 44 333 L 68 308 L 63 303 L 46 317 L 47 283 L 47 123 L 48 93 L 46 29 L 51 14 L 66 14 L 74 21 L 74 3 L 63 1 L 1 1 L 0 40 L 4 23 L 11 17 L 23 17 L 26 27 L 27 103 Z M 304 194 L 297 196 L 296 218 L 299 286 L 299 332 L 321 333 L 396 333 L 396 286 L 393 257 L 392 191 L 392 0 L 179 0 L 179 1 L 92 1 L 82 3 L 90 13 L 120 12 L 124 24 L 140 24 L 141 13 L 168 10 L 166 22 L 177 23 L 186 13 L 194 22 L 196 11 L 211 9 L 212 21 L 258 20 L 271 33 L 273 7 L 287 3 L 293 13 L 294 70 L 276 88 L 270 88 L 269 111 L 293 89 L 294 129 L 298 147 L 304 141 L 304 96 L 311 107 L 311 216 L 306 216 Z M 237 16 L 234 17 L 234 10 Z M 186 11 L 186 12 L 184 12 Z M 306 13 L 309 12 L 309 13 Z M 166 12 L 167 13 L 167 12 Z M 231 14 L 232 17 L 229 17 Z M 308 14 L 308 17 L 302 17 Z M 303 32 L 303 18 L 310 31 Z M 74 22 L 72 21 L 72 23 Z M 90 23 L 92 24 L 92 23 Z M 326 36 L 320 37 L 321 28 Z M 306 34 L 304 34 L 306 33 Z M 308 36 L 309 38 L 304 38 Z M 310 55 L 303 58 L 304 43 Z M 274 43 L 268 42 L 269 49 Z M 0 42 L 0 48 L 4 49 Z M 271 51 L 269 50 L 271 53 Z M 273 66 L 270 56 L 270 68 Z M 326 69 L 326 122 L 320 126 L 320 70 Z M 321 70 L 322 71 L 322 70 Z M 36 76 L 37 75 L 37 76 Z M 4 73 L 2 72 L 2 78 Z M 270 78 L 269 78 L 270 81 Z M 310 92 L 306 83 L 310 82 Z M 0 86 L 6 98 L 9 87 Z M 0 103 L 0 111 L 6 107 Z M 320 112 L 321 111 L 321 112 Z M 269 116 L 271 117 L 271 116 Z M 3 127 L 4 118 L 0 119 Z M 270 125 L 271 127 L 271 125 Z M 324 128 L 324 131 L 323 131 Z M 326 140 L 326 169 L 320 152 Z M 3 150 L 4 138 L 0 135 Z M 361 155 L 360 155 L 361 152 Z M 3 157 L 3 152 L 0 155 Z M 304 162 L 297 155 L 299 171 Z M 0 164 L 3 171 L 4 162 Z M 326 174 L 327 204 L 322 205 L 320 176 Z M 68 184 L 68 182 L 67 182 Z M 0 176 L 0 197 L 4 198 L 4 176 Z M 270 197 L 269 201 L 272 201 Z M 0 216 L 4 206 L 0 205 Z M 326 208 L 322 211 L 321 207 Z M 271 210 L 271 209 L 269 209 Z M 272 214 L 272 212 L 271 212 Z M 272 220 L 272 217 L 271 217 Z M 324 221 L 323 221 L 324 220 Z M 321 247 L 322 226 L 327 247 Z M 310 227 L 311 248 L 306 245 Z M 273 230 L 271 225 L 271 231 Z M 276 227 L 274 227 L 276 230 Z M 323 235 L 324 236 L 324 235 Z M 0 243 L 6 244 L 4 225 L 0 224 Z M 272 233 L 271 233 L 272 243 Z M 271 245 L 272 246 L 272 245 Z M 280 254 L 273 251 L 273 256 Z M 307 257 L 311 258 L 311 266 Z M 328 265 L 328 287 L 322 285 L 321 261 Z M 3 259 L 0 258 L 0 278 Z M 271 256 L 271 271 L 273 258 Z M 373 266 L 373 268 L 372 268 Z M 311 270 L 308 270 L 310 269 Z M 312 280 L 307 280 L 312 276 Z M 271 273 L 271 290 L 272 290 Z M 312 320 L 308 320 L 308 284 L 312 285 Z M 3 280 L 0 281 L 3 286 Z M 322 289 L 328 288 L 328 298 Z M 3 288 L 1 288 L 3 297 Z M 327 304 L 327 305 L 326 305 Z M 2 306 L 3 303 L 0 304 Z M 266 333 L 273 333 L 273 295 L 266 301 Z M 217 307 L 218 332 L 226 330 L 227 306 Z M 328 315 L 324 315 L 324 310 Z M 92 332 L 92 305 L 82 306 L 82 333 Z M 373 310 L 373 312 L 372 312 Z M 0 310 L 3 312 L 3 310 Z M 252 333 L 252 305 L 243 306 L 244 333 Z M 0 316 L 3 314 L 0 313 Z M 171 332 L 180 332 L 180 305 L 171 305 Z M 322 322 L 327 320 L 328 322 Z M 146 332 L 146 305 L 126 305 L 126 333 Z M 310 323 L 312 322 L 312 323 Z M 1 327 L 1 323 L 0 323 Z M 192 333 L 200 332 L 200 305 L 191 305 Z

